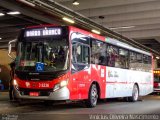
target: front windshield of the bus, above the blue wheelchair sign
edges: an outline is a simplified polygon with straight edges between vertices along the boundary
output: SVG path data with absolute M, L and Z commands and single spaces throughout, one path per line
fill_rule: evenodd
M 67 39 L 45 38 L 18 43 L 16 70 L 34 72 L 36 63 L 44 64 L 42 72 L 61 71 L 68 68 L 69 45 Z

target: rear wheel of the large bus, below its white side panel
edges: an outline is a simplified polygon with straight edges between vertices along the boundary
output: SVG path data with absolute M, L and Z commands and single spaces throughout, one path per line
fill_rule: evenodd
M 132 96 L 129 97 L 129 101 L 136 102 L 138 101 L 138 98 L 139 98 L 139 89 L 138 89 L 138 86 L 135 84 L 133 86 Z

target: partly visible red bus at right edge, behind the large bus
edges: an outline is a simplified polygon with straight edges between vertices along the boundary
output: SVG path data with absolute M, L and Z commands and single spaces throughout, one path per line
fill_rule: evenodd
M 154 70 L 154 93 L 160 93 L 160 69 Z

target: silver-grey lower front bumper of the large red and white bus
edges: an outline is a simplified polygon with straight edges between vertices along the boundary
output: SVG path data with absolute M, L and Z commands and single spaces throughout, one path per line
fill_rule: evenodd
M 14 94 L 19 99 L 37 99 L 37 100 L 69 100 L 70 92 L 67 87 L 63 87 L 54 92 L 50 92 L 49 96 L 30 96 L 21 95 L 20 91 L 14 87 Z

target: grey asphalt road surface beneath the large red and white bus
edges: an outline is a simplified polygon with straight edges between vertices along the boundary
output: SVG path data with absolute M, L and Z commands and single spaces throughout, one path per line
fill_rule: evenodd
M 148 114 L 152 116 L 147 118 L 143 116 L 143 118 L 160 119 L 160 115 L 157 116 L 160 114 L 160 95 L 148 95 L 135 103 L 125 102 L 122 99 L 107 99 L 99 101 L 95 108 L 86 108 L 82 102 L 46 105 L 41 101 L 25 101 L 18 104 L 10 102 L 7 93 L 0 93 L 0 119 L 2 120 L 7 118 L 8 120 L 119 119 L 117 116 L 110 116 L 113 114 Z M 123 117 L 128 118 L 128 116 Z M 137 118 L 140 119 L 142 116 Z

